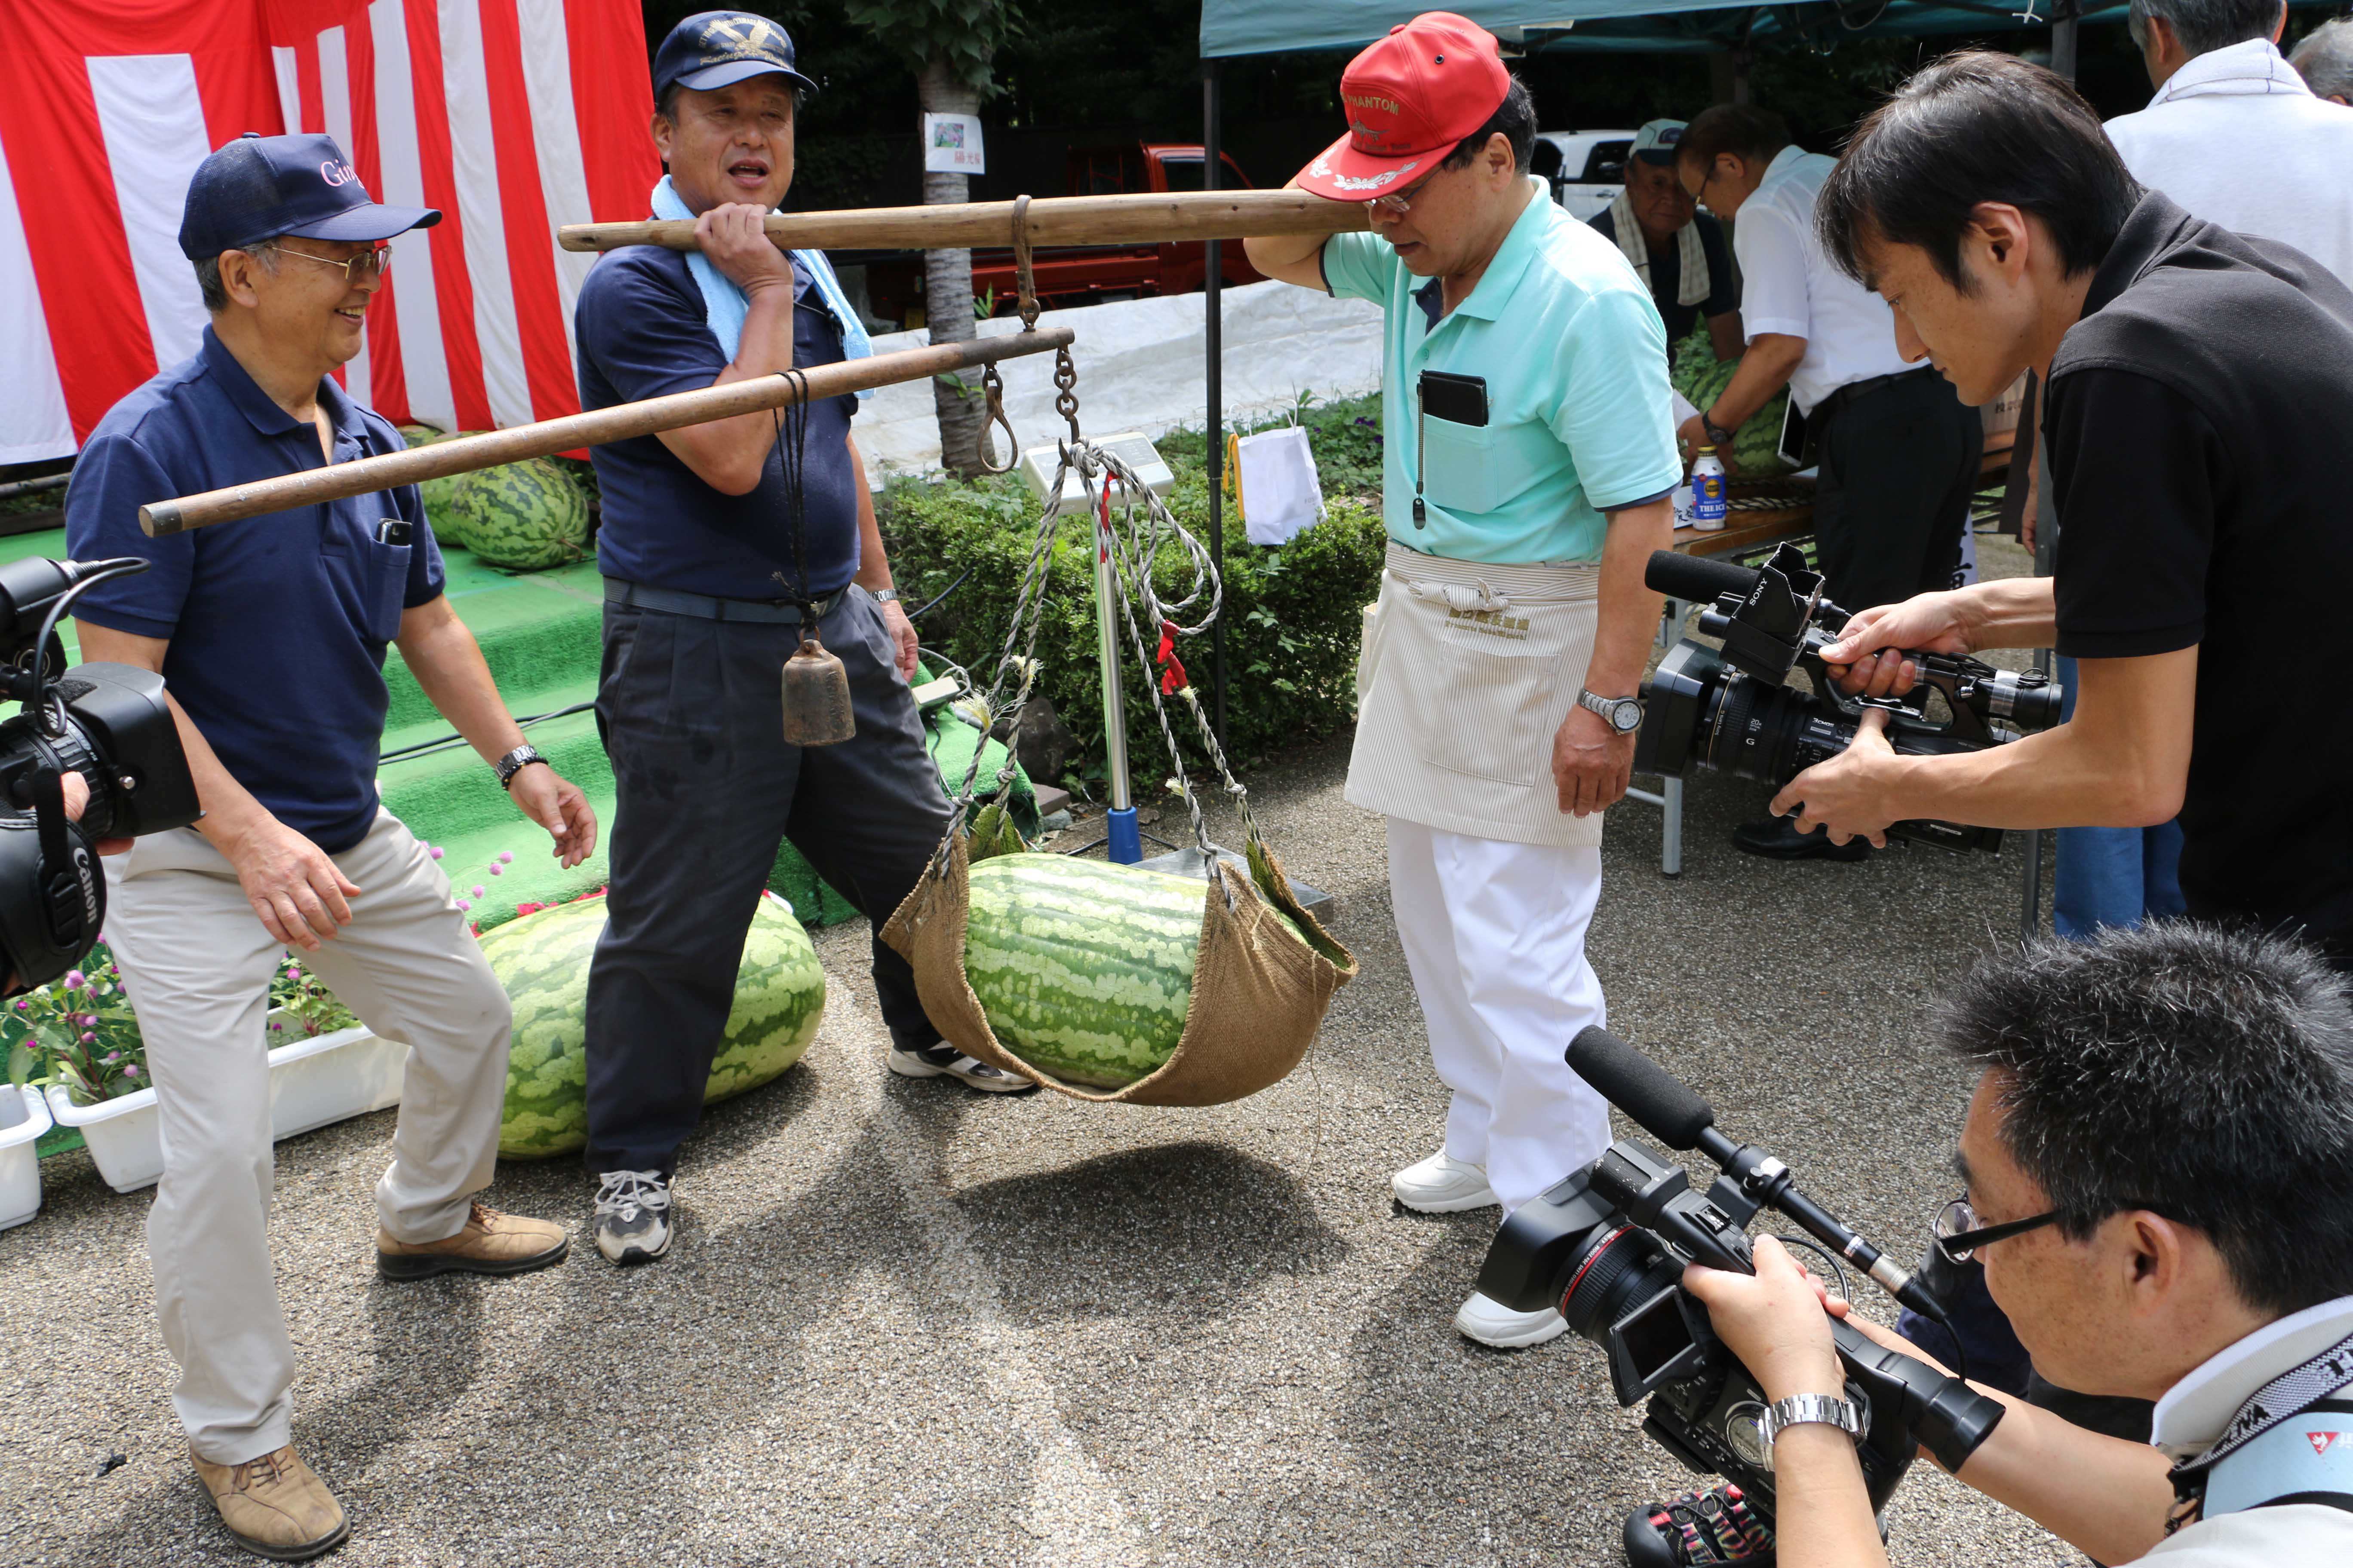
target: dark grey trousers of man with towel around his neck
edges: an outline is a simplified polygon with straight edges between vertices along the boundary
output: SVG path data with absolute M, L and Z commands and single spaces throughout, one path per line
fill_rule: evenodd
M 668 1173 L 694 1131 L 781 839 L 880 931 L 948 830 L 882 607 L 852 588 L 819 635 L 849 672 L 859 733 L 798 748 L 784 743 L 798 625 L 605 604 L 595 722 L 619 802 L 588 969 L 591 1171 Z M 915 971 L 880 936 L 873 978 L 892 1041 L 936 1044 Z

